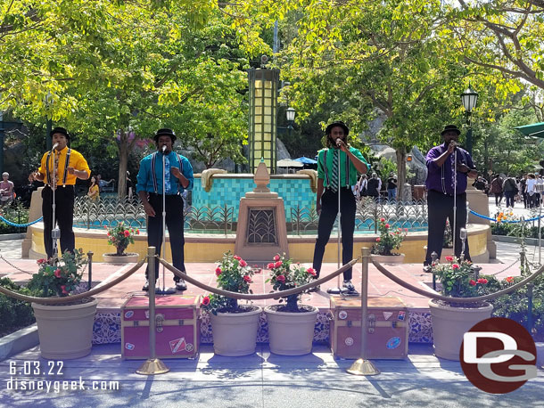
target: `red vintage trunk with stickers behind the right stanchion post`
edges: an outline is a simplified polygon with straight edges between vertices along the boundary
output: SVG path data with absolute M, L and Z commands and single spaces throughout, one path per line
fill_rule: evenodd
M 331 297 L 334 358 L 361 356 L 361 298 Z M 400 298 L 368 298 L 367 358 L 408 355 L 408 309 Z

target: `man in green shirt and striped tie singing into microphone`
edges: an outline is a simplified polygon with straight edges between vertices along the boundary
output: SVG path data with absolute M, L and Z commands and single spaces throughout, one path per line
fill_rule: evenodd
M 355 229 L 355 196 L 351 186 L 357 184 L 357 175 L 368 170 L 367 161 L 357 149 L 346 144 L 350 129 L 345 123 L 336 121 L 326 126 L 326 149 L 317 157 L 317 203 L 319 215 L 317 241 L 314 249 L 313 268 L 319 276 L 326 243 L 329 241 L 334 220 L 338 214 L 338 195 L 342 227 L 342 264 L 353 257 L 353 231 Z M 340 160 L 340 173 L 338 160 Z M 343 273 L 343 290 L 355 293 L 351 283 L 351 268 Z M 317 289 L 318 290 L 318 289 Z

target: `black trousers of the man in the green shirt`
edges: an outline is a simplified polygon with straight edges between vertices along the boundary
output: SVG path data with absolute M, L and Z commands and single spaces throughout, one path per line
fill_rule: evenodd
M 342 264 L 346 265 L 353 258 L 353 230 L 355 229 L 355 196 L 350 187 L 340 189 L 340 211 L 342 227 Z M 321 196 L 321 215 L 317 225 L 317 241 L 314 249 L 313 268 L 319 276 L 326 243 L 333 230 L 334 220 L 338 213 L 338 192 L 326 189 Z M 350 280 L 351 268 L 343 273 L 344 280 Z

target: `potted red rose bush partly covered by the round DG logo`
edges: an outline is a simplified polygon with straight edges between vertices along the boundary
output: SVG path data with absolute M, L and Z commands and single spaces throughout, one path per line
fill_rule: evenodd
M 477 277 L 470 261 L 459 262 L 446 257 L 446 263 L 433 264 L 433 273 L 440 279 L 441 294 L 451 298 L 474 298 L 488 292 L 488 278 Z M 477 322 L 488 319 L 493 310 L 487 302 L 455 303 L 429 300 L 433 319 L 434 354 L 449 360 L 459 360 L 463 335 Z

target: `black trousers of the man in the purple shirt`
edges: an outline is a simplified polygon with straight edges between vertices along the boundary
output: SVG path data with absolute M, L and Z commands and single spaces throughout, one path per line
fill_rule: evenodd
M 466 227 L 466 192 L 457 194 L 456 211 L 456 233 L 455 233 L 455 256 L 461 257 L 460 230 Z M 442 254 L 442 243 L 444 242 L 444 230 L 446 219 L 453 229 L 453 196 L 429 190 L 427 193 L 427 206 L 429 210 L 429 234 L 427 236 L 427 255 L 424 265 L 431 265 L 433 258 L 431 254 L 436 252 L 438 259 Z M 468 251 L 468 239 L 465 241 L 465 259 L 470 260 Z

